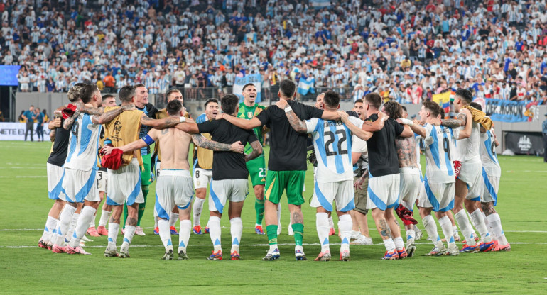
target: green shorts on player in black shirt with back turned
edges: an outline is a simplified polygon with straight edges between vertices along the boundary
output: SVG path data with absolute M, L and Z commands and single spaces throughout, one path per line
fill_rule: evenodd
M 283 191 L 287 192 L 288 204 L 302 205 L 305 170 L 268 171 L 266 174 L 266 200 L 279 204 Z

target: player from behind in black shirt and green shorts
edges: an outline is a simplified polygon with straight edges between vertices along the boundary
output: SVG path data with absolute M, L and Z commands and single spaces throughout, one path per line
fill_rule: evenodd
M 295 240 L 296 260 L 305 260 L 302 247 L 304 233 L 304 221 L 300 206 L 304 203 L 302 190 L 304 185 L 306 163 L 306 140 L 308 135 L 296 132 L 288 122 L 285 112 L 293 111 L 298 118 L 309 120 L 311 118 L 324 118 L 335 120 L 338 114 L 330 111 L 323 111 L 313 106 L 305 106 L 294 101 L 296 86 L 290 80 L 283 80 L 279 83 L 278 97 L 288 101 L 285 110 L 277 106 L 266 108 L 258 116 L 245 120 L 233 116 L 220 114 L 218 118 L 226 118 L 235 126 L 244 129 L 252 129 L 259 126 L 270 128 L 271 149 L 268 162 L 268 173 L 266 174 L 266 192 L 264 194 L 264 219 L 266 221 L 266 233 L 268 235 L 270 248 L 263 260 L 277 260 L 279 250 L 277 245 L 277 208 L 283 191 L 287 192 L 288 207 L 292 216 L 292 228 Z

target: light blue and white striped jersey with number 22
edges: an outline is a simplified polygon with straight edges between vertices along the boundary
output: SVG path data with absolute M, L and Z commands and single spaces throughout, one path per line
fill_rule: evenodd
M 349 117 L 361 128 L 363 121 Z M 313 135 L 313 148 L 318 159 L 317 182 L 340 182 L 353 179 L 352 133 L 340 121 L 325 121 L 321 118 L 306 120 L 307 133 Z

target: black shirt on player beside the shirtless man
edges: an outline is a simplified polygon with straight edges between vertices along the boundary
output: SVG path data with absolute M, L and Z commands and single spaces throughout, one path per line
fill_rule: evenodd
M 197 124 L 200 133 L 209 133 L 211 140 L 218 143 L 226 143 L 231 145 L 237 141 L 241 141 L 242 145 L 254 143 L 256 136 L 253 130 L 244 130 L 232 125 L 228 121 L 213 120 Z M 212 154 L 212 179 L 247 179 L 249 171 L 245 165 L 245 155 L 237 152 L 217 152 Z

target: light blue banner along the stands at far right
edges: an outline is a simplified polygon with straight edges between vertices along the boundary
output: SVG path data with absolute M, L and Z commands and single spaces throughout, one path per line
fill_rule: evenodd
M 537 101 L 505 101 L 502 99 L 486 99 L 484 113 L 492 114 L 493 121 L 508 123 L 531 122 L 539 118 Z

